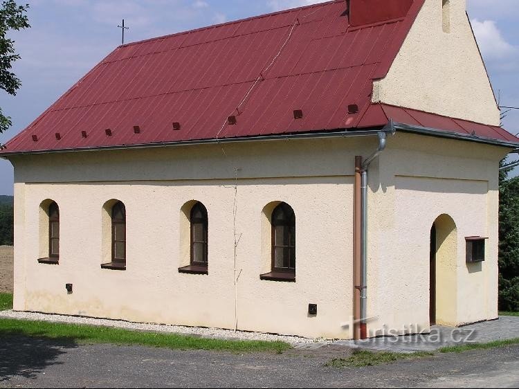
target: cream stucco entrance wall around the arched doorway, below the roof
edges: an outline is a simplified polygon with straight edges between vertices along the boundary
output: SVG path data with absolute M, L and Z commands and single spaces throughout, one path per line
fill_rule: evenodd
M 437 268 L 438 323 L 498 317 L 498 164 L 506 153 L 412 134 L 389 138 L 370 172 L 371 334 L 429 328 L 430 229 L 440 215 L 455 222 L 456 248 L 444 257 L 452 271 Z M 489 237 L 486 260 L 467 265 L 465 237 L 477 235 Z

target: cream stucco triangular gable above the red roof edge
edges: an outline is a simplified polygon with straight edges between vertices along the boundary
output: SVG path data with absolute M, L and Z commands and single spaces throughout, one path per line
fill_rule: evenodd
M 500 111 L 466 16 L 465 0 L 450 0 L 450 32 L 442 1 L 426 0 L 388 75 L 372 100 L 499 125 Z

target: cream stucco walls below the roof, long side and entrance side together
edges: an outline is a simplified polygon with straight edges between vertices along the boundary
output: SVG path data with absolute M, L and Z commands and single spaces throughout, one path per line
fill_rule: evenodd
M 376 138 L 225 148 L 13 158 L 15 309 L 234 328 L 236 302 L 239 329 L 351 338 L 354 156 L 371 154 Z M 390 138 L 370 169 L 372 335 L 406 323 L 428 328 L 429 232 L 444 213 L 459 231 L 451 324 L 497 316 L 498 161 L 506 152 L 410 134 Z M 45 199 L 60 206 L 58 266 L 37 263 Z M 127 209 L 127 271 L 100 269 L 102 207 L 111 199 Z M 178 272 L 186 251 L 183 206 L 194 200 L 208 209 L 209 275 Z M 295 211 L 295 283 L 260 280 L 270 261 L 264 209 L 275 201 Z M 489 237 L 482 269 L 464 264 L 468 235 Z M 318 304 L 316 317 L 308 316 L 309 303 Z

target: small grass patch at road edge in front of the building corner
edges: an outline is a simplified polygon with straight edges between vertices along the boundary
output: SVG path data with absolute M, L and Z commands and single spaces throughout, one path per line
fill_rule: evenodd
M 366 350 L 354 350 L 349 358 L 335 358 L 326 363 L 331 368 L 363 368 L 399 361 L 401 359 L 417 359 L 426 356 L 434 356 L 431 352 L 413 352 L 403 354 L 400 352 L 371 352 Z

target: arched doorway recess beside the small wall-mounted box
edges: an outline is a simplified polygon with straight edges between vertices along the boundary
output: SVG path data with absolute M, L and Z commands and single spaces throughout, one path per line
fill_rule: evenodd
M 449 215 L 430 230 L 430 325 L 452 325 L 457 318 L 457 230 Z

